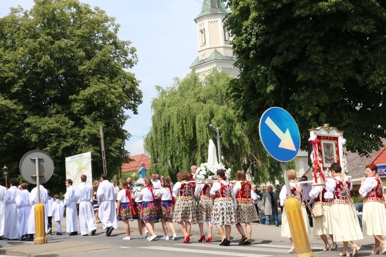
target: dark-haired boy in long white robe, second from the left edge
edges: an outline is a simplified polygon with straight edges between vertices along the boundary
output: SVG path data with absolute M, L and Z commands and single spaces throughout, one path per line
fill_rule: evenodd
M 4 196 L 5 203 L 5 226 L 4 226 L 4 236 L 8 239 L 19 239 L 19 220 L 17 217 L 16 209 L 16 196 L 21 193 L 17 188 L 19 186 L 19 181 L 16 178 L 11 178 L 9 180 L 10 188 L 7 190 Z

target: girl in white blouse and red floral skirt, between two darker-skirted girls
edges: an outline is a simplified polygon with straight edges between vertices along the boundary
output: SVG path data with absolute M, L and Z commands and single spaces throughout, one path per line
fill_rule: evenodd
M 154 234 L 154 219 L 158 218 L 158 208 L 155 204 L 155 196 L 151 186 L 150 179 L 144 178 L 144 188 L 139 193 L 139 199 L 142 200 L 141 219 L 145 222 L 146 228 L 149 231 L 149 241 L 153 241 L 157 237 Z

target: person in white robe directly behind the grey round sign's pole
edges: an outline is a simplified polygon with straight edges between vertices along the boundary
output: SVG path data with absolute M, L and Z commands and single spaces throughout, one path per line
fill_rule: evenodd
M 40 203 L 44 205 L 44 223 L 45 228 L 47 227 L 47 202 L 48 202 L 48 193 L 47 189 L 43 185 L 39 185 L 40 192 Z M 29 194 L 29 204 L 31 205 L 31 211 L 29 212 L 28 217 L 28 241 L 33 241 L 33 235 L 35 234 L 35 206 L 38 203 L 38 187 L 31 190 Z

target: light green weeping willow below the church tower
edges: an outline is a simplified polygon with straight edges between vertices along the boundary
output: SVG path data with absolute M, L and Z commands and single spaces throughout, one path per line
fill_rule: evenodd
M 175 177 L 178 171 L 190 171 L 192 164 L 207 160 L 208 140 L 216 143 L 219 127 L 222 161 L 232 169 L 252 171 L 255 182 L 273 181 L 280 176 L 280 165 L 262 148 L 255 135 L 247 135 L 229 106 L 226 85 L 232 78 L 214 69 L 201 81 L 192 72 L 176 79 L 166 89 L 157 87 L 159 95 L 152 101 L 152 127 L 145 138 L 145 151 L 152 168 L 162 175 Z M 257 135 L 258 137 L 258 135 Z

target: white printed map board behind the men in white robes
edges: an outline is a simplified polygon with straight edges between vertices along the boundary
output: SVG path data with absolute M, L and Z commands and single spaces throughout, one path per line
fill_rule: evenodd
M 80 186 L 80 176 L 83 174 L 87 176 L 87 183 L 93 185 L 91 152 L 66 157 L 66 179 L 73 180 L 74 188 Z

